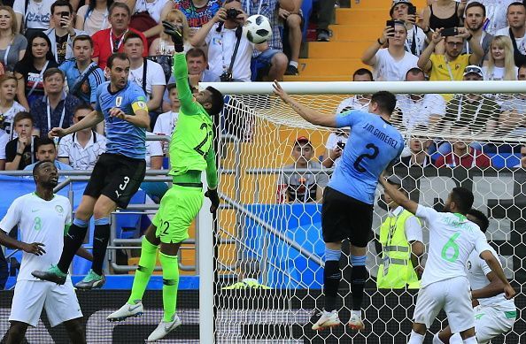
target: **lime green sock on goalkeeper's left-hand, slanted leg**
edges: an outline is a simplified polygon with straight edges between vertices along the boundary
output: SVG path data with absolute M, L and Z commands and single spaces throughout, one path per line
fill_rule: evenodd
M 157 246 L 153 245 L 144 236 L 141 244 L 139 266 L 135 271 L 134 284 L 132 286 L 131 294 L 129 295 L 129 304 L 135 304 L 135 302 L 143 300 L 144 290 L 146 290 L 146 286 L 148 286 L 151 272 L 153 272 L 153 268 L 155 267 L 156 257 Z

